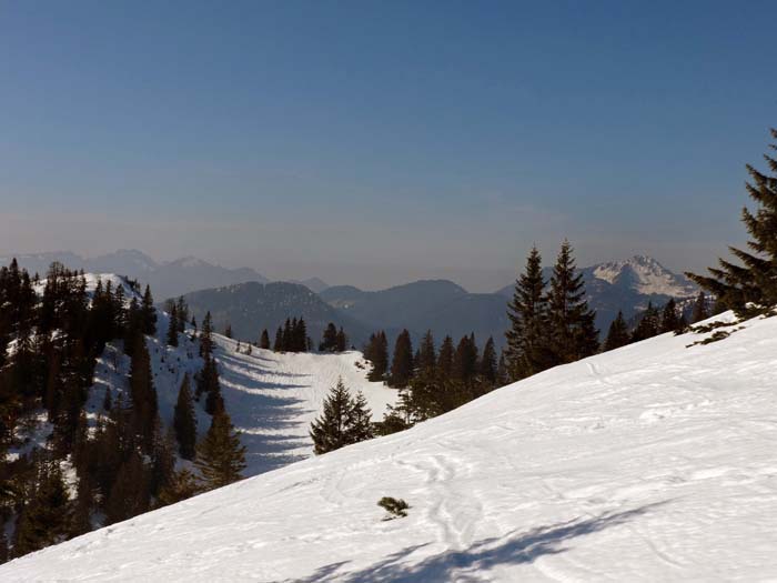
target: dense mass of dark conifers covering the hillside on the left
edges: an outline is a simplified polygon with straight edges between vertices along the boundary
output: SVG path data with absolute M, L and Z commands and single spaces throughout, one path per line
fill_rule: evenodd
M 16 260 L 0 269 L 0 560 L 223 485 L 244 468 L 221 398 L 210 315 L 200 335 L 204 365 L 195 375 L 195 395 L 184 376 L 167 431 L 147 341 L 158 324 L 151 290 L 141 294 L 138 282 L 119 282 L 98 280 L 88 293 L 83 272 L 59 263 L 44 281 L 20 270 Z M 182 301 L 171 310 L 170 345 L 181 341 L 186 314 Z M 129 372 L 122 385 L 98 388 L 98 358 L 111 366 L 109 354 L 114 374 L 122 375 L 124 358 Z M 200 443 L 198 395 L 205 396 L 212 415 Z M 97 413 L 93 421 L 87 418 L 88 402 Z M 41 411 L 48 424 L 40 424 Z M 40 443 L 20 442 L 36 433 Z M 178 456 L 193 460 L 195 472 L 176 472 Z M 75 476 L 74 495 L 64 483 L 68 469 Z

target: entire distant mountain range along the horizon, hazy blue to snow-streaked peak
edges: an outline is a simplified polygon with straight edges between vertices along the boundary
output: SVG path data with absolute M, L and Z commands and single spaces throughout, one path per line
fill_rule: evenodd
M 256 340 L 264 328 L 272 333 L 286 318 L 302 315 L 316 343 L 323 326 L 331 321 L 342 325 L 356 346 L 373 331 L 385 330 L 393 339 L 403 328 L 416 341 L 428 329 L 437 341 L 446 334 L 457 340 L 474 332 L 478 343 L 493 336 L 502 346 L 508 325 L 506 302 L 514 287 L 509 284 L 494 293 L 470 293 L 452 281 L 421 280 L 363 291 L 352 285 L 327 287 L 317 278 L 269 284 L 252 269 L 228 269 L 195 258 L 160 263 L 135 250 L 93 259 L 70 252 L 17 258 L 30 272 L 41 274 L 52 261 L 60 261 L 71 269 L 129 275 L 150 283 L 160 303 L 185 294 L 198 320 L 210 310 L 219 330 L 229 322 L 236 338 L 250 341 Z M 10 255 L 0 258 L 0 264 L 8 262 Z M 551 271 L 544 270 L 548 280 Z M 618 310 L 630 320 L 650 301 L 660 305 L 670 298 L 687 299 L 698 292 L 685 277 L 645 255 L 598 263 L 581 272 L 603 335 Z

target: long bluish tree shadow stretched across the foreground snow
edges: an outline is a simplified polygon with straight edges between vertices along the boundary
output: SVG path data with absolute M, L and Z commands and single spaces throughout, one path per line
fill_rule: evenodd
M 349 562 L 332 563 L 320 567 L 309 577 L 296 581 L 481 581 L 482 573 L 495 566 L 527 564 L 543 555 L 563 553 L 569 549 L 568 543 L 578 536 L 617 526 L 663 504 L 666 502 L 647 504 L 625 512 L 606 512 L 593 519 L 576 519 L 551 526 L 539 526 L 517 535 L 513 531 L 502 537 L 477 541 L 463 551 L 445 551 L 418 562 L 408 559 L 410 555 L 430 543 L 410 546 L 359 571 L 347 571 Z

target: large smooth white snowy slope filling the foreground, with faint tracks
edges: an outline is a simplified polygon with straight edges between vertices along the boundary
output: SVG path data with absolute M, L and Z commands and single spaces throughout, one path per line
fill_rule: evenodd
M 0 567 L 2 581 L 777 577 L 777 318 L 663 335 Z M 375 504 L 405 499 L 405 519 Z

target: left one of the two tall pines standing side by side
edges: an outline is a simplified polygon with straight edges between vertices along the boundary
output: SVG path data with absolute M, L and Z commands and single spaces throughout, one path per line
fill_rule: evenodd
M 526 259 L 526 269 L 515 282 L 507 305 L 511 328 L 505 334 L 505 359 L 512 380 L 525 379 L 551 364 L 548 358 L 548 308 L 544 294 L 542 257 L 536 247 Z

